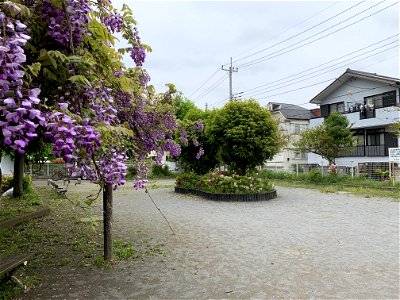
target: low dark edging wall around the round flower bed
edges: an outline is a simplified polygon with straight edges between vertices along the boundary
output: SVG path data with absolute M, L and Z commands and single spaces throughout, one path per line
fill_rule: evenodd
M 276 190 L 267 193 L 260 194 L 217 194 L 211 192 L 204 192 L 200 190 L 185 189 L 181 187 L 175 187 L 175 193 L 179 194 L 193 194 L 209 200 L 216 201 L 265 201 L 276 198 Z

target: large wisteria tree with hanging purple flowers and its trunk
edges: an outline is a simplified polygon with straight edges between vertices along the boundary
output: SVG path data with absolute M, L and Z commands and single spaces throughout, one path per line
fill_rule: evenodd
M 112 191 L 125 184 L 127 151 L 138 169 L 135 188 L 146 181 L 150 151 L 157 160 L 180 153 L 172 139 L 174 87 L 156 94 L 148 85 L 142 65 L 151 49 L 135 26 L 130 8 L 118 12 L 109 0 L 0 3 L 0 146 L 15 154 L 15 177 L 29 145 L 45 140 L 72 175 L 101 186 L 106 260 Z M 114 48 L 116 33 L 127 48 Z M 125 67 L 125 54 L 136 67 Z

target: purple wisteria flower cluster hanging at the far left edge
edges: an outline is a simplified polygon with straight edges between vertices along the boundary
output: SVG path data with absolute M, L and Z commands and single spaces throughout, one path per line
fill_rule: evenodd
M 19 12 L 13 3 L 5 4 L 4 8 L 14 14 Z M 28 95 L 23 95 L 21 64 L 26 61 L 23 46 L 30 39 L 26 28 L 0 10 L 0 129 L 4 144 L 20 154 L 24 154 L 28 143 L 37 137 L 39 124 L 46 123 L 36 108 L 40 103 L 40 90 L 27 90 Z

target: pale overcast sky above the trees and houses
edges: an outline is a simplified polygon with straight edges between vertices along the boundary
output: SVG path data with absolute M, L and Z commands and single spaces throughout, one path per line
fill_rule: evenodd
M 150 83 L 173 83 L 202 109 L 229 101 L 221 67 L 231 57 L 234 96 L 261 105 L 315 108 L 347 68 L 399 78 L 399 1 L 113 1 L 122 3 L 152 48 Z

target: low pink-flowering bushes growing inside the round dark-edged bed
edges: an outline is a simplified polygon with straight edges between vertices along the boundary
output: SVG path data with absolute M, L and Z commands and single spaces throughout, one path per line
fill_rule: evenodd
M 227 172 L 212 172 L 203 176 L 184 173 L 176 178 L 176 185 L 221 194 L 259 194 L 273 190 L 272 184 L 257 174 L 239 176 Z

